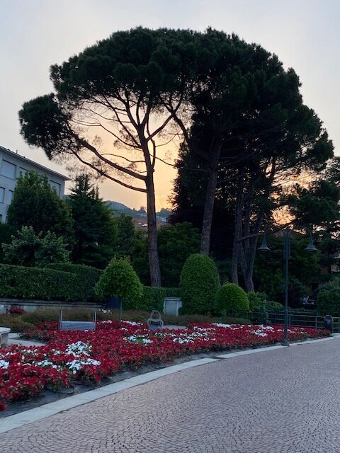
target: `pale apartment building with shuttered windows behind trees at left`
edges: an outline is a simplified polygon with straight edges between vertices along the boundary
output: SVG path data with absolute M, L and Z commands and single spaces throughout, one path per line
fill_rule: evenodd
M 28 170 L 46 175 L 60 198 L 64 197 L 65 181 L 70 178 L 0 146 L 0 222 L 6 222 L 7 209 L 11 205 L 16 181 Z

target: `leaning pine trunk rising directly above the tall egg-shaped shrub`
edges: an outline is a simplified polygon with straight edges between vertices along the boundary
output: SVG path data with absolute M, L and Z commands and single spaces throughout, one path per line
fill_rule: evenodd
M 202 234 L 200 236 L 200 253 L 209 255 L 210 251 L 210 234 L 212 225 L 212 214 L 214 212 L 215 192 L 217 185 L 218 175 L 218 161 L 220 159 L 220 152 L 222 148 L 222 141 L 219 140 L 210 154 L 210 168 L 208 176 L 207 193 L 205 194 Z

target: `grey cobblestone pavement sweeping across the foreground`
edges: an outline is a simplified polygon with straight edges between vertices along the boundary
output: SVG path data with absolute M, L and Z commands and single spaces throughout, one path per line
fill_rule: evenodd
M 5 432 L 0 452 L 338 453 L 339 362 L 335 339 L 186 369 Z

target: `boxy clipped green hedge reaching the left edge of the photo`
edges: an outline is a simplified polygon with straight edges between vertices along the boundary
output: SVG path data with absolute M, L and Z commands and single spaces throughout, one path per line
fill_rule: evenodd
M 0 297 L 78 301 L 79 285 L 71 273 L 0 264 Z

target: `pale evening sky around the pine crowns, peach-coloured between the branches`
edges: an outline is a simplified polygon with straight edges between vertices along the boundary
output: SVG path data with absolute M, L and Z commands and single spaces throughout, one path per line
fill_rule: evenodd
M 137 25 L 202 31 L 211 26 L 262 45 L 286 69 L 295 69 L 304 102 L 324 122 L 339 155 L 339 17 L 338 0 L 0 0 L 0 145 L 67 174 L 41 149 L 28 147 L 19 132 L 23 102 L 52 91 L 50 65 Z M 169 151 L 174 159 L 176 147 Z M 157 164 L 158 209 L 166 206 L 175 175 Z M 104 200 L 146 205 L 142 193 L 108 182 L 99 187 Z

